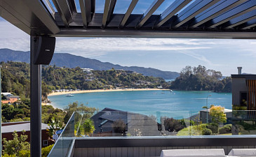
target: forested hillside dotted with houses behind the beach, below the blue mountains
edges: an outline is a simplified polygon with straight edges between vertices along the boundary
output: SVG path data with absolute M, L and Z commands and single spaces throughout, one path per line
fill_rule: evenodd
M 2 61 L 2 91 L 29 98 L 29 64 Z M 47 97 L 56 89 L 110 89 L 110 88 L 156 88 L 169 85 L 160 77 L 144 76 L 126 70 L 83 70 L 82 68 L 42 68 L 42 95 Z

